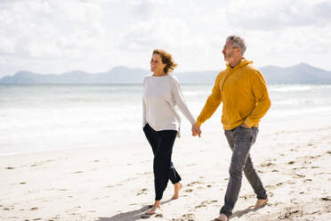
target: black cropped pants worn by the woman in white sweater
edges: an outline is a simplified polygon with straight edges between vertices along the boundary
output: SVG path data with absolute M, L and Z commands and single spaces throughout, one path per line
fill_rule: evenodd
M 177 131 L 155 131 L 153 128 L 149 127 L 149 124 L 146 124 L 146 126 L 143 127 L 143 132 L 145 133 L 154 154 L 153 170 L 156 195 L 155 200 L 160 201 L 169 179 L 173 184 L 177 184 L 182 180 L 171 161 Z

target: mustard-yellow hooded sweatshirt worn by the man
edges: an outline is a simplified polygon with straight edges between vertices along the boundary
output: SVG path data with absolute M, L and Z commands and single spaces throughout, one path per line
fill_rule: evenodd
M 267 85 L 253 61 L 243 58 L 238 65 L 222 70 L 217 76 L 212 94 L 197 119 L 198 127 L 214 114 L 223 102 L 222 124 L 230 130 L 245 123 L 258 127 L 259 121 L 270 108 Z

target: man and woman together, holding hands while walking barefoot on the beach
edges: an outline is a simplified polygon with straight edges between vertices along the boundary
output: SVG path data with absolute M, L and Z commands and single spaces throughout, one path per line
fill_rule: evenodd
M 192 135 L 201 135 L 200 126 L 209 119 L 218 106 L 222 105 L 222 125 L 230 145 L 230 178 L 220 216 L 215 220 L 226 221 L 238 200 L 242 172 L 256 194 L 255 209 L 262 208 L 268 201 L 262 181 L 254 169 L 249 151 L 259 131 L 260 119 L 270 108 L 267 85 L 253 61 L 244 58 L 246 51 L 242 37 L 227 37 L 222 53 L 226 69 L 215 79 L 212 93 L 203 110 L 195 120 L 182 96 L 178 80 L 170 73 L 176 68 L 170 53 L 154 50 L 150 60 L 152 75 L 143 79 L 142 125 L 143 132 L 154 154 L 155 203 L 146 214 L 155 214 L 168 180 L 174 184 L 173 199 L 179 197 L 182 178 L 171 160 L 174 140 L 180 134 L 181 119 L 177 108 L 190 121 Z

